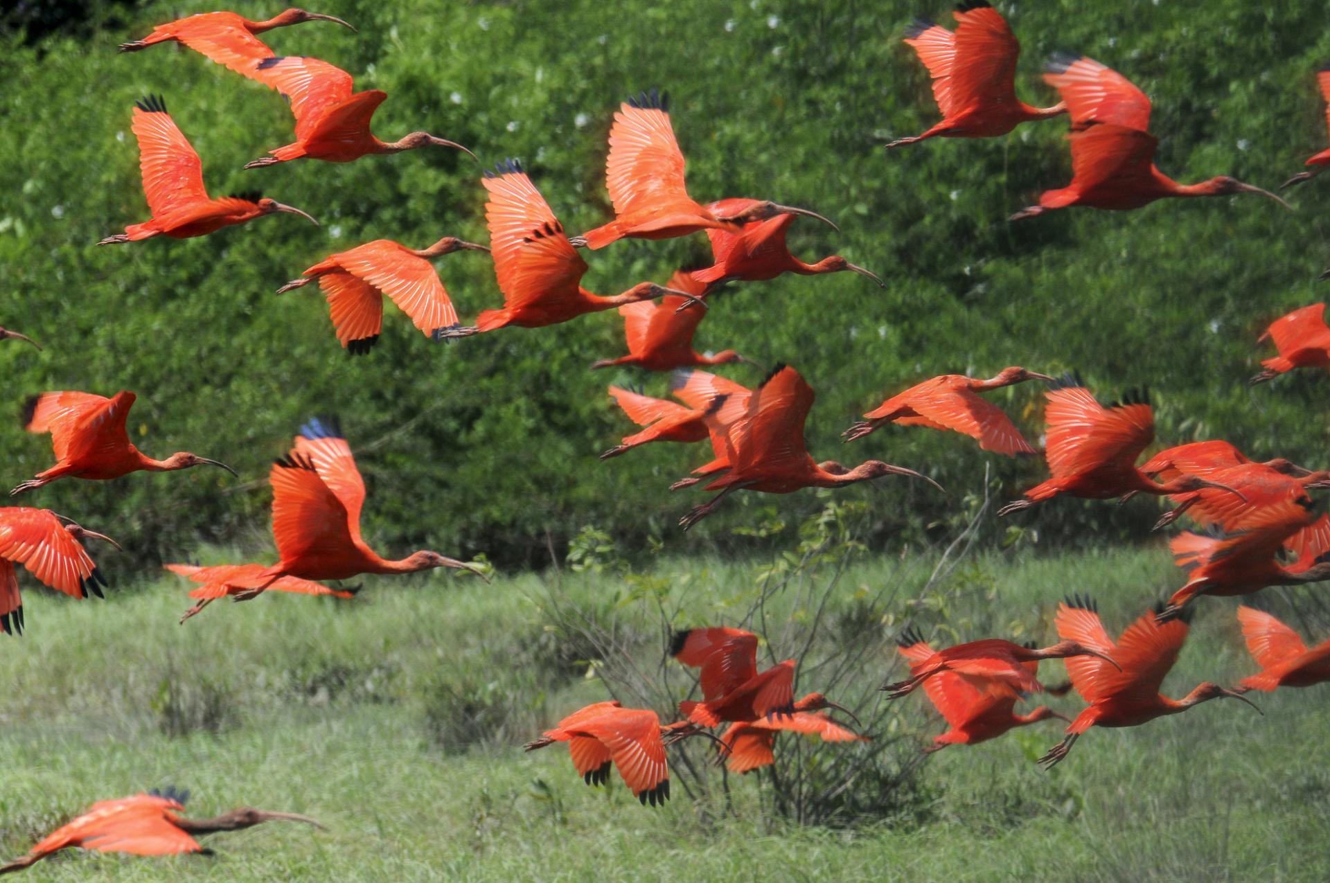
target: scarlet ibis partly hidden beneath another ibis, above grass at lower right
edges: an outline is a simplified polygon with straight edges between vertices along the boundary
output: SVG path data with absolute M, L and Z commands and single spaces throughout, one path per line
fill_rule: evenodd
M 1033 644 L 1027 644 L 1027 649 L 1035 649 Z M 923 640 L 915 629 L 906 629 L 896 638 L 896 652 L 911 664 L 924 665 L 932 658 L 935 650 Z M 1031 678 L 1039 674 L 1039 660 L 1021 662 Z M 1020 693 L 1011 689 L 1011 685 L 999 678 L 990 678 L 984 674 L 960 674 L 952 669 L 944 669 L 923 682 L 924 694 L 934 707 L 942 714 L 951 727 L 940 735 L 932 737 L 932 745 L 924 749 L 924 754 L 940 751 L 948 745 L 978 745 L 988 739 L 998 738 L 1007 730 L 1017 726 L 1027 726 L 1060 718 L 1071 723 L 1057 711 L 1047 705 L 1032 709 L 1028 714 L 1016 714 L 1016 701 Z M 1053 690 L 1049 689 L 1052 693 Z

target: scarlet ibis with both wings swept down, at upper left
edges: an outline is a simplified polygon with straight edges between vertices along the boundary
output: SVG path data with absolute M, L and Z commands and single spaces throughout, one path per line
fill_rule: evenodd
M 483 245 L 443 237 L 428 249 L 408 249 L 392 239 L 375 239 L 315 263 L 278 294 L 318 281 L 327 295 L 336 339 L 350 355 L 363 355 L 383 328 L 383 298 L 411 316 L 426 336 L 446 339 L 462 327 L 458 311 L 431 259 L 454 251 L 489 251 Z

